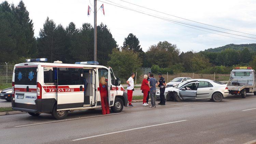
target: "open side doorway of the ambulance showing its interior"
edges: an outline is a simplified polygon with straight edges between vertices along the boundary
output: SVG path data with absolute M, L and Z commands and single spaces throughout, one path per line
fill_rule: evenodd
M 94 104 L 95 72 L 84 69 L 84 104 Z

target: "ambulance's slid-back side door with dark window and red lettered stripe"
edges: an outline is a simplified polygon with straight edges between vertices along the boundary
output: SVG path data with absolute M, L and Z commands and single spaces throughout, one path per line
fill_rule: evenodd
M 57 110 L 83 108 L 84 69 L 83 67 L 58 67 Z

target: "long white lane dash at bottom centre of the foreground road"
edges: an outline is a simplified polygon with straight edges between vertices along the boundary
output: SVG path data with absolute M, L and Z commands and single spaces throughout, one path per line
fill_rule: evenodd
M 72 140 L 72 141 L 79 141 L 79 140 L 84 140 L 84 139 L 89 139 L 89 138 L 95 138 L 95 137 L 98 137 L 98 136 L 109 135 L 109 134 L 120 133 L 120 132 L 131 131 L 131 130 L 137 130 L 137 129 L 143 129 L 143 128 L 148 128 L 148 127 L 155 127 L 155 126 L 167 125 L 167 124 L 172 124 L 172 123 L 179 123 L 179 122 L 182 122 L 182 121 L 187 121 L 187 120 L 179 120 L 179 121 L 173 121 L 173 122 L 169 122 L 169 123 L 163 123 L 163 124 L 157 124 L 157 125 L 151 125 L 151 126 L 121 130 L 121 131 L 99 134 L 99 135 L 94 135 L 94 136 L 88 136 L 88 137 L 85 137 L 85 138 L 75 139 L 75 140 Z

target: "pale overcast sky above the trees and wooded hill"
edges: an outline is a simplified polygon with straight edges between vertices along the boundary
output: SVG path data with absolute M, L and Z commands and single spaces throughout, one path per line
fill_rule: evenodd
M 88 17 L 87 8 L 89 5 L 92 10 L 94 9 L 94 0 L 23 1 L 29 11 L 30 18 L 33 20 L 35 37 L 38 37 L 39 30 L 43 27 L 43 23 L 47 16 L 49 16 L 50 19 L 53 19 L 56 25 L 62 24 L 64 27 L 66 27 L 71 21 L 76 24 L 77 28 L 80 28 L 83 23 L 91 23 L 93 25 L 93 12 L 91 13 L 91 16 Z M 133 33 L 137 38 L 139 38 L 143 51 L 147 51 L 149 46 L 157 44 L 159 41 L 168 41 L 176 44 L 177 47 L 184 52 L 189 50 L 197 52 L 208 48 L 224 46 L 230 43 L 256 43 L 254 41 L 234 39 L 191 29 L 152 16 L 132 12 L 107 4 L 111 3 L 109 1 L 112 1 L 134 10 L 144 11 L 146 13 L 152 13 L 162 17 L 176 19 L 215 30 L 256 38 L 255 0 L 125 0 L 150 9 L 168 13 L 170 15 L 255 35 L 248 35 L 193 23 L 184 19 L 143 9 L 120 0 L 101 1 L 104 2 L 97 1 L 97 9 L 100 8 L 102 3 L 104 3 L 105 16 L 101 11 L 98 11 L 97 23 L 100 24 L 102 22 L 108 26 L 119 46 L 123 45 L 124 38 L 127 37 L 129 33 Z M 8 2 L 17 5 L 19 0 L 8 0 Z M 215 33 L 249 39 L 220 32 Z

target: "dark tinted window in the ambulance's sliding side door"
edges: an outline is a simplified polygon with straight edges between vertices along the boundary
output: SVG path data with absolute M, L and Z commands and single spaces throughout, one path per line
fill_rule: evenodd
M 81 68 L 58 68 L 58 85 L 83 85 L 84 70 Z

